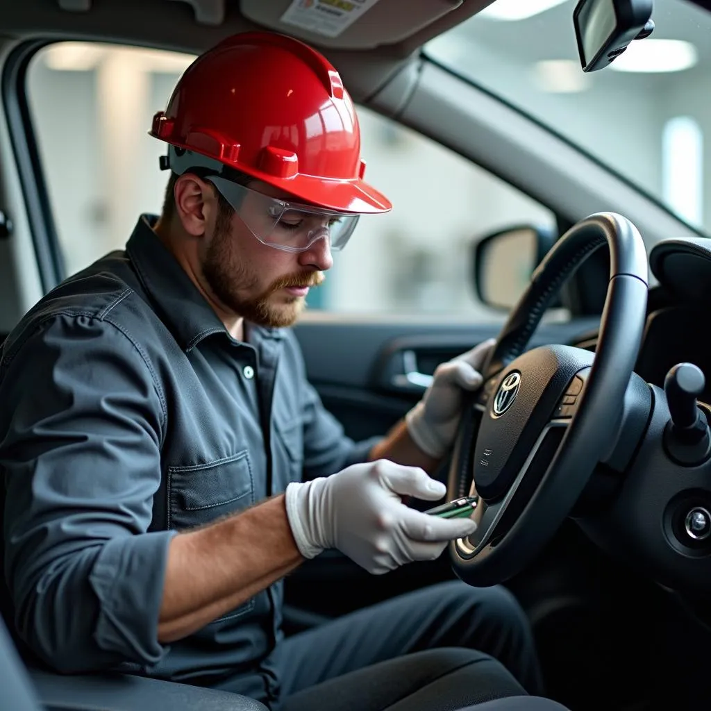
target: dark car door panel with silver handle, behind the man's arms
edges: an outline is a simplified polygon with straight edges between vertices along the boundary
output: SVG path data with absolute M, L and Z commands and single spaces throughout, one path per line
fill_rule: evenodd
M 544 324 L 529 347 L 572 343 L 597 324 L 597 318 Z M 408 369 L 405 353 L 414 354 L 421 375 L 431 376 L 439 363 L 495 337 L 500 329 L 501 324 L 407 324 L 394 319 L 355 322 L 333 314 L 304 320 L 295 327 L 295 334 L 307 376 L 324 406 L 343 424 L 348 436 L 359 440 L 385 434 L 422 397 L 424 383 L 417 385 L 404 378 Z M 444 480 L 447 466 L 445 461 L 433 476 Z M 287 631 L 302 629 L 296 619 L 299 610 L 337 616 L 452 577 L 446 555 L 385 576 L 370 576 L 338 552 L 327 551 L 287 579 Z

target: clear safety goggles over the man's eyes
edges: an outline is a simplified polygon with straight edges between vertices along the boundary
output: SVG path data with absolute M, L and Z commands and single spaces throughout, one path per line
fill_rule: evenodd
M 284 252 L 305 252 L 326 239 L 331 250 L 342 250 L 360 215 L 322 210 L 311 205 L 270 198 L 220 176 L 206 176 L 263 245 Z

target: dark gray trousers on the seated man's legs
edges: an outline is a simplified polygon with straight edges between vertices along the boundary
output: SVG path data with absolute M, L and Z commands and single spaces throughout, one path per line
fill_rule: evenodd
M 283 711 L 454 711 L 542 692 L 513 595 L 459 581 L 289 637 L 279 657 Z

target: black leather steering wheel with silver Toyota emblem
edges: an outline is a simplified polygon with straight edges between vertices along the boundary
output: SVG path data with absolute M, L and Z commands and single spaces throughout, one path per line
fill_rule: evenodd
M 597 351 L 541 346 L 524 353 L 547 305 L 607 244 L 610 277 Z M 469 538 L 449 545 L 472 585 L 503 582 L 527 565 L 570 514 L 617 440 L 646 321 L 647 256 L 622 215 L 596 213 L 563 235 L 539 265 L 483 369 L 459 427 L 447 501 L 474 496 Z

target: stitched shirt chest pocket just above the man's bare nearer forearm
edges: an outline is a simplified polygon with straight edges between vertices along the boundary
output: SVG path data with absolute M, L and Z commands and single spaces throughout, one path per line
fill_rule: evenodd
M 210 523 L 255 503 L 247 450 L 204 464 L 168 467 L 168 528 Z

